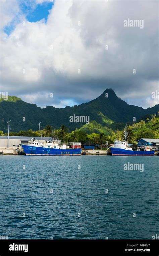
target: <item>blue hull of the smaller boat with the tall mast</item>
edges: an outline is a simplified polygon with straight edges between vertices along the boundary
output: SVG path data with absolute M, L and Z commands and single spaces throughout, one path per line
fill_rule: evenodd
M 126 150 L 122 148 L 110 148 L 112 155 L 154 155 L 155 151 L 137 151 L 137 150 Z

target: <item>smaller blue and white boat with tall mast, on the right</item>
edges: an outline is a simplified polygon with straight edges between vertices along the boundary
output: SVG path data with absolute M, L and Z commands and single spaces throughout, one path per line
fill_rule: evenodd
M 120 141 L 120 140 L 116 139 L 114 141 L 114 147 L 110 148 L 112 155 L 144 156 L 144 155 L 154 155 L 155 154 L 155 150 L 152 150 L 151 147 L 147 147 L 147 146 L 137 147 L 137 150 L 134 150 L 133 147 L 128 145 L 128 142 L 126 141 L 126 137 L 127 137 L 127 132 L 126 132 L 126 127 L 125 127 L 124 140 Z

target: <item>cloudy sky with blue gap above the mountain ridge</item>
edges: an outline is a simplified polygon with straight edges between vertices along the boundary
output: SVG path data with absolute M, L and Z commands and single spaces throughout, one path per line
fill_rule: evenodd
M 152 99 L 158 1 L 0 0 L 0 7 L 1 92 L 40 107 L 85 103 L 106 88 L 128 104 L 159 103 Z M 144 27 L 124 27 L 128 19 Z

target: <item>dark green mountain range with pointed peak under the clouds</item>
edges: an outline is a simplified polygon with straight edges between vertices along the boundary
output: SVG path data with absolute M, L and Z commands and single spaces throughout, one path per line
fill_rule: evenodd
M 108 97 L 106 97 L 106 94 L 108 94 Z M 0 100 L 0 130 L 6 132 L 7 121 L 11 120 L 11 128 L 14 132 L 29 129 L 36 131 L 39 122 L 43 123 L 43 127 L 47 124 L 56 124 L 56 129 L 65 124 L 69 131 L 73 131 L 76 127 L 79 129 L 84 125 L 84 123 L 69 121 L 69 117 L 74 114 L 90 116 L 90 121 L 95 120 L 102 126 L 111 128 L 111 126 L 115 126 L 114 122 L 132 122 L 133 117 L 140 120 L 143 116 L 157 114 L 158 110 L 159 104 L 148 109 L 128 105 L 118 98 L 112 89 L 106 89 L 97 99 L 88 103 L 65 108 L 52 106 L 40 108 L 36 104 L 24 102 L 14 96 L 8 96 L 7 101 Z M 23 117 L 25 117 L 25 121 L 23 121 Z

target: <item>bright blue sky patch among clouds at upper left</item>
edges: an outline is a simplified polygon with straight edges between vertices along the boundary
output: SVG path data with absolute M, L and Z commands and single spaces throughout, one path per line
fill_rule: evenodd
M 41 4 L 36 4 L 34 0 L 19 0 L 18 2 L 21 14 L 24 15 L 29 22 L 37 22 L 42 19 L 45 19 L 45 22 L 47 22 L 49 10 L 51 10 L 54 4 L 53 2 L 43 2 Z M 14 30 L 16 22 L 18 21 L 18 14 L 19 13 L 17 13 L 14 20 L 4 28 L 4 32 L 7 35 L 10 35 L 10 33 Z

